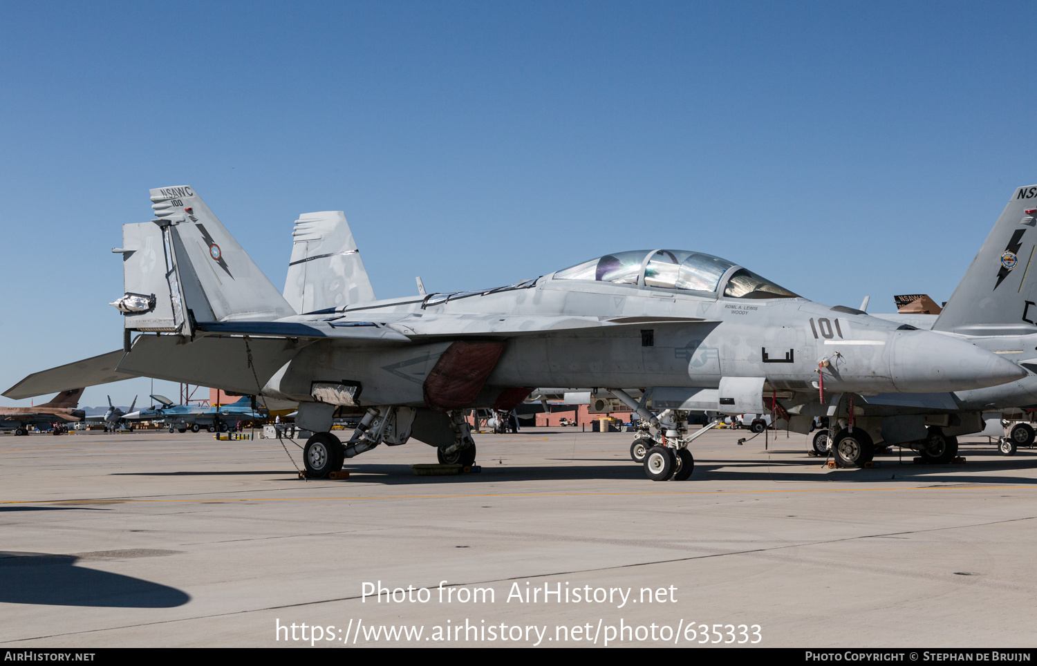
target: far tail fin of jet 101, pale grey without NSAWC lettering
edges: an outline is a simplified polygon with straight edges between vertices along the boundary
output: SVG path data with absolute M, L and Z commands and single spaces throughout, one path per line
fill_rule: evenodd
M 291 231 L 284 297 L 299 314 L 374 300 L 360 250 L 341 210 L 304 212 Z

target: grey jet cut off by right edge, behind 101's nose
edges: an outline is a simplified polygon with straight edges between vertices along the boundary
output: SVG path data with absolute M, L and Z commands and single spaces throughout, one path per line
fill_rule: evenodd
M 874 315 L 989 350 L 1018 364 L 1027 375 L 983 388 L 860 396 L 854 411 L 878 419 L 881 439 L 876 441 L 909 446 L 930 462 L 950 462 L 957 455 L 957 436 L 984 429 L 984 412 L 1012 419 L 1022 416 L 1024 409 L 1037 408 L 1035 229 L 1037 185 L 1017 187 L 943 309 L 928 296 L 914 294 L 896 296 L 898 314 Z M 840 413 L 845 421 L 845 406 Z M 1002 453 L 1011 455 L 1016 445 L 1033 440 L 1033 428 L 1018 424 L 1001 440 Z

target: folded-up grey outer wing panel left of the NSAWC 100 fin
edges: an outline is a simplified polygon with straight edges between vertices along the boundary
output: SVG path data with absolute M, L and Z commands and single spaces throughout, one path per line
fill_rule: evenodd
M 119 310 L 125 316 L 127 329 L 176 332 L 183 326 L 183 309 L 174 309 L 171 297 L 166 254 L 161 227 L 150 222 L 122 225 L 123 299 L 132 303 Z M 177 285 L 177 306 L 178 292 Z

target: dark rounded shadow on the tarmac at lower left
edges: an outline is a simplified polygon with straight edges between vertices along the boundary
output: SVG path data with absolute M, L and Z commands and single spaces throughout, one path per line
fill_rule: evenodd
M 168 585 L 76 567 L 79 557 L 0 552 L 0 603 L 105 608 L 173 608 L 191 597 Z

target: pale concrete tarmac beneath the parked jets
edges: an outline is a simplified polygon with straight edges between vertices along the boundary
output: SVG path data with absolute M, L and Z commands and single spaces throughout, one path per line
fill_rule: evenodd
M 0 645 L 1037 643 L 1037 453 L 838 470 L 749 436 L 653 483 L 630 434 L 576 428 L 479 435 L 454 476 L 381 446 L 344 481 L 278 440 L 2 435 Z

